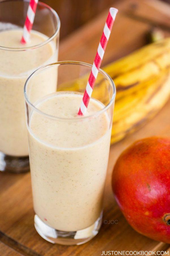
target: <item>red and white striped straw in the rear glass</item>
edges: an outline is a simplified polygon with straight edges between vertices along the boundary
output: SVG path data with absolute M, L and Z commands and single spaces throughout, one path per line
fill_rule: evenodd
M 26 44 L 30 38 L 30 32 L 33 26 L 35 11 L 37 8 L 38 0 L 30 0 L 28 10 L 27 10 L 27 17 L 25 19 L 23 35 L 21 38 L 21 43 Z

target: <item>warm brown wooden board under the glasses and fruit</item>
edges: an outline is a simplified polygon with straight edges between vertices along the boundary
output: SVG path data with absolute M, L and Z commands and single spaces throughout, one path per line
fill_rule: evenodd
M 169 35 L 170 8 L 163 8 L 164 5 L 156 0 L 118 1 L 115 7 L 119 14 L 102 64 L 143 46 L 145 34 L 153 24 L 159 23 Z M 107 11 L 61 42 L 59 60 L 92 63 Z M 62 246 L 43 240 L 33 225 L 30 174 L 0 173 L 0 255 L 101 255 L 102 251 L 109 250 L 168 250 L 169 245 L 148 239 L 128 225 L 112 195 L 111 173 L 120 152 L 136 139 L 152 135 L 170 136 L 169 110 L 170 102 L 141 130 L 111 146 L 103 220 L 118 220 L 118 224 L 103 223 L 99 234 L 83 245 Z

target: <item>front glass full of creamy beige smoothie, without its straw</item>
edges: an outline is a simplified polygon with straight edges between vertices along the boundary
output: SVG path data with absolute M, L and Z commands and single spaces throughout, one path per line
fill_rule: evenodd
M 91 69 L 80 62 L 52 63 L 25 83 L 35 228 L 52 243 L 85 243 L 102 222 L 116 89 L 100 69 L 86 115 L 79 116 Z M 37 81 L 48 77 L 43 86 L 51 87 L 55 73 L 57 91 L 42 96 Z

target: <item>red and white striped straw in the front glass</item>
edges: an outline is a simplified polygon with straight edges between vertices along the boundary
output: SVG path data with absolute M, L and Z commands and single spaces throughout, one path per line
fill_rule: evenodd
M 101 40 L 97 49 L 97 53 L 94 59 L 94 63 L 92 66 L 92 71 L 90 73 L 87 85 L 86 85 L 86 90 L 84 92 L 83 100 L 80 106 L 80 109 L 78 111 L 78 115 L 84 115 L 87 111 L 87 107 L 89 104 L 90 97 L 92 95 L 92 91 L 94 88 L 95 80 L 97 78 L 99 68 L 101 65 L 101 61 L 103 59 L 103 55 L 105 53 L 105 49 L 107 46 L 107 42 L 109 40 L 109 36 L 111 34 L 112 26 L 116 17 L 118 10 L 116 8 L 110 8 L 109 9 L 109 14 L 107 16 L 107 20 L 103 29 L 103 34 L 101 36 Z

